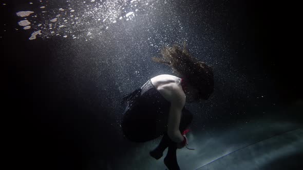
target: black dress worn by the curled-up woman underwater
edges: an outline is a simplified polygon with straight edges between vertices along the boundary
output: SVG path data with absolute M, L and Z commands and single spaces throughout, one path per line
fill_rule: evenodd
M 124 137 L 133 142 L 146 142 L 167 132 L 168 113 L 171 102 L 167 101 L 149 79 L 142 88 L 123 98 L 127 101 L 121 123 Z M 193 114 L 182 109 L 180 132 L 191 123 Z

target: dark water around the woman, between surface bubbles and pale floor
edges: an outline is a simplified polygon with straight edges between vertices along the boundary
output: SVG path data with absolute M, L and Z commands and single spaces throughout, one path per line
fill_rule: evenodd
M 193 131 L 212 135 L 264 115 L 301 122 L 295 5 L 167 3 L 155 2 L 153 12 L 139 13 L 131 24 L 118 23 L 88 41 L 55 36 L 28 40 L 32 32 L 22 30 L 15 15 L 27 9 L 28 1 L 1 7 L 2 114 L 8 116 L 3 121 L 8 123 L 4 130 L 13 166 L 89 169 L 88 164 L 101 160 L 102 169 L 105 162 L 127 157 L 137 144 L 122 138 L 121 97 L 153 76 L 173 74 L 150 60 L 159 56 L 151 44 L 160 48 L 186 40 L 191 53 L 214 66 L 214 98 L 188 106 L 196 116 Z M 174 18 L 181 25 L 172 24 Z

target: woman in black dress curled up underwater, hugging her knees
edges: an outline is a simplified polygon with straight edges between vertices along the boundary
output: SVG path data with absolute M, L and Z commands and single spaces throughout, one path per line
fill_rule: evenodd
M 185 134 L 193 119 L 193 114 L 184 107 L 185 102 L 207 100 L 214 91 L 212 67 L 192 57 L 185 46 L 164 47 L 163 58 L 153 58 L 170 66 L 180 77 L 168 74 L 153 77 L 122 101 L 127 101 L 121 123 L 124 137 L 146 142 L 163 135 L 149 154 L 160 159 L 168 147 L 164 164 L 169 170 L 180 169 L 176 150 L 187 144 Z

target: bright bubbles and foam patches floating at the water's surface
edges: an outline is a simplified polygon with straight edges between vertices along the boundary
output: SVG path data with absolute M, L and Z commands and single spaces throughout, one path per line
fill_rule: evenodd
M 147 6 L 148 2 L 151 1 L 83 1 L 80 3 L 66 1 L 64 5 L 59 6 L 54 2 L 39 1 L 37 3 L 44 11 L 32 9 L 33 11 L 18 11 L 16 15 L 25 17 L 36 13 L 27 18 L 28 22 L 32 24 L 26 26 L 29 26 L 27 29 L 31 29 L 33 32 L 41 30 L 41 38 L 77 34 L 77 37 L 87 39 L 109 30 L 112 24 L 133 20 L 138 12 L 150 7 Z M 53 23 L 51 28 L 49 23 Z M 89 35 L 87 34 L 88 28 Z

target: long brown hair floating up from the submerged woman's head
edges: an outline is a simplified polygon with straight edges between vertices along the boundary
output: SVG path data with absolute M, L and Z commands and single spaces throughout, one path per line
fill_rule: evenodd
M 214 71 L 205 62 L 193 57 L 186 49 L 177 45 L 164 47 L 161 50 L 162 58 L 153 57 L 153 61 L 164 63 L 171 67 L 184 81 L 199 91 L 199 97 L 207 100 L 214 92 Z

